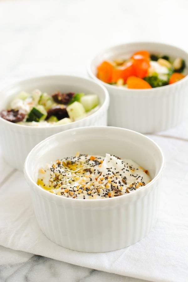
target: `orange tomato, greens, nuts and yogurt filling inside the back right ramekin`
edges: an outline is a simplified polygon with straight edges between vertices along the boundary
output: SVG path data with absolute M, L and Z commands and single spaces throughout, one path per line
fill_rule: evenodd
M 128 59 L 105 60 L 97 66 L 103 82 L 132 89 L 147 89 L 172 84 L 184 78 L 185 60 L 167 55 L 134 52 Z

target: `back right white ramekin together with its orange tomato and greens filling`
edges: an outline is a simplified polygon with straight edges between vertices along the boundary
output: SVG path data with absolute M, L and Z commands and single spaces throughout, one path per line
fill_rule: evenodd
M 108 125 L 153 133 L 175 127 L 187 115 L 186 66 L 188 53 L 180 48 L 134 42 L 97 54 L 88 73 L 109 92 Z

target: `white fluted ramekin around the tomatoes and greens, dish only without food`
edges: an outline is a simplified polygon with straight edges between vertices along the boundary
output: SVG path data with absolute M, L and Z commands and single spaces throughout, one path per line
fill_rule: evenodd
M 153 133 L 175 127 L 186 116 L 188 76 L 171 85 L 152 89 L 128 89 L 102 82 L 96 77 L 97 66 L 104 60 L 129 58 L 138 50 L 185 59 L 188 53 L 180 48 L 154 42 L 136 42 L 114 46 L 95 56 L 88 64 L 88 73 L 102 83 L 110 95 L 108 125 L 124 127 L 140 133 Z M 186 68 L 187 73 L 187 68 Z

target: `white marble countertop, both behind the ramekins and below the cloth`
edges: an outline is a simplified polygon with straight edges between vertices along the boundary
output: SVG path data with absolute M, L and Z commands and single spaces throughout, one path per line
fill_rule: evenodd
M 187 9 L 186 0 L 0 0 L 0 88 L 30 76 L 87 76 L 88 59 L 119 43 L 159 41 L 188 50 Z M 158 135 L 187 141 L 187 125 Z M 1 155 L 0 170 L 1 186 L 13 172 Z M 0 282 L 97 280 L 144 281 L 0 246 Z

